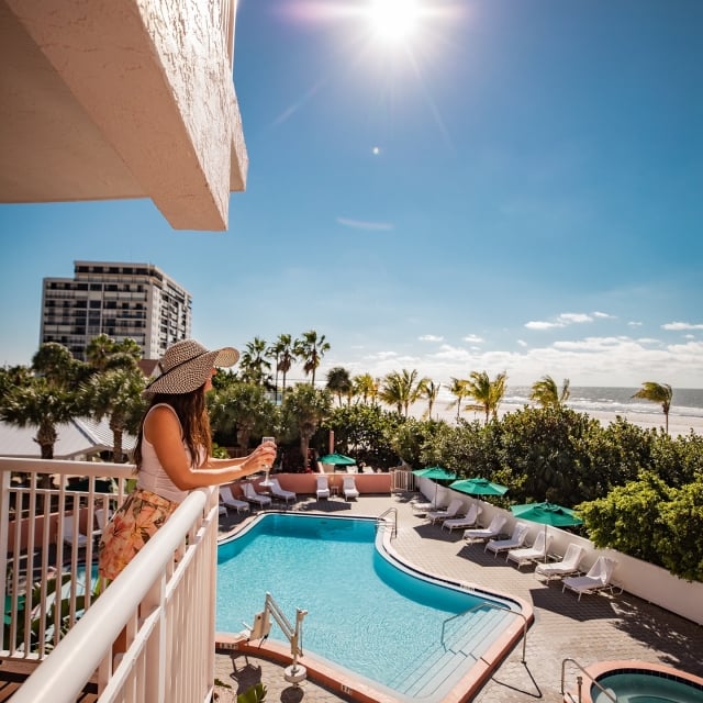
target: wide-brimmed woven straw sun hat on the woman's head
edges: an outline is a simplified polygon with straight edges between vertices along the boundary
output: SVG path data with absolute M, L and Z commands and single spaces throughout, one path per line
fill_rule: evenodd
M 144 391 L 155 393 L 190 393 L 200 388 L 215 366 L 234 366 L 239 353 L 234 347 L 210 352 L 194 339 L 171 345 L 158 362 L 161 375 Z

